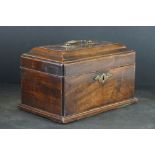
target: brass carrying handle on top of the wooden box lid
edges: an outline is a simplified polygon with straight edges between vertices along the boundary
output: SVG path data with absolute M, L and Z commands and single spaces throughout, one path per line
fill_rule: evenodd
M 75 44 L 93 44 L 92 40 L 69 40 L 65 42 L 65 46 L 71 46 Z

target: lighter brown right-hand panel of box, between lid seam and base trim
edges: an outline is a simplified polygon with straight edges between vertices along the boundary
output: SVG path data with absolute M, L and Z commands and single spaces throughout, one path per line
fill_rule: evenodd
M 105 76 L 110 75 L 110 76 Z M 98 77 L 98 78 L 97 78 Z M 134 95 L 135 65 L 66 76 L 64 114 L 72 115 L 123 101 Z

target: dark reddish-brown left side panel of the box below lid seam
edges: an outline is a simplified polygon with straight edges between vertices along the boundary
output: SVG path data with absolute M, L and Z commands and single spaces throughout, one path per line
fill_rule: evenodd
M 62 113 L 62 78 L 21 68 L 22 104 L 53 114 Z

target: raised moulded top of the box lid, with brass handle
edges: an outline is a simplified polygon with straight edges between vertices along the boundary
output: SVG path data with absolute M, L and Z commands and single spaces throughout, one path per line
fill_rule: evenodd
M 91 40 L 71 40 L 63 44 L 32 48 L 25 56 L 60 63 L 70 63 L 96 57 L 130 52 L 121 43 Z

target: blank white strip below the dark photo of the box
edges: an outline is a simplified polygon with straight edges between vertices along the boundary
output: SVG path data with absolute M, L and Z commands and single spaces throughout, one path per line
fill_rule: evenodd
M 2 155 L 154 155 L 154 130 L 1 130 Z

